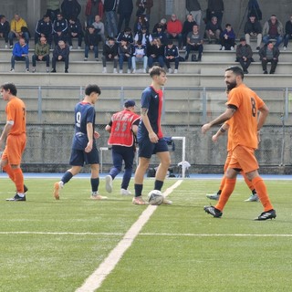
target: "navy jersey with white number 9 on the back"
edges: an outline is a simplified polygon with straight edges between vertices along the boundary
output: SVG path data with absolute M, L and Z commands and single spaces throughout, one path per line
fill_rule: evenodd
M 78 102 L 75 106 L 75 134 L 72 149 L 84 150 L 89 142 L 87 124 L 92 123 L 93 132 L 95 125 L 95 110 L 88 102 Z

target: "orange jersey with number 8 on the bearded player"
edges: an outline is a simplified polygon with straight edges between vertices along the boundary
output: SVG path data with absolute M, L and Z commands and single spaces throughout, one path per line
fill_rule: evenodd
M 256 149 L 257 113 L 265 102 L 256 95 L 255 91 L 241 84 L 230 91 L 226 104 L 237 108 L 230 123 L 228 135 L 232 149 L 235 149 L 237 145 Z

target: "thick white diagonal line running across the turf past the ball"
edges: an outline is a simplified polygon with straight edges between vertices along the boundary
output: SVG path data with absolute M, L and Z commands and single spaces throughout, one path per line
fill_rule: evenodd
M 183 180 L 177 181 L 172 184 L 163 194 L 167 196 L 177 188 Z M 110 252 L 107 258 L 99 265 L 99 267 L 91 274 L 84 282 L 81 287 L 78 287 L 76 292 L 93 292 L 98 289 L 104 279 L 110 274 L 114 267 L 119 263 L 121 256 L 130 247 L 135 237 L 139 235 L 141 228 L 148 222 L 151 215 L 156 210 L 157 206 L 149 205 L 143 213 L 140 215 L 138 220 L 131 225 L 128 232 L 121 239 L 120 243 Z

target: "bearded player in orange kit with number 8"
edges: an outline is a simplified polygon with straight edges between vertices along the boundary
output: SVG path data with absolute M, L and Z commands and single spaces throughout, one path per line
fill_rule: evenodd
M 268 115 L 265 102 L 243 83 L 242 68 L 231 67 L 225 70 L 224 80 L 229 92 L 227 109 L 218 118 L 202 127 L 203 134 L 214 125 L 222 124 L 232 118 L 229 135 L 232 138 L 232 156 L 225 173 L 224 188 L 215 206 L 204 206 L 204 211 L 214 217 L 221 217 L 224 205 L 235 189 L 236 176 L 241 170 L 254 184 L 258 197 L 263 204 L 264 212 L 255 220 L 276 218 L 276 211 L 269 200 L 266 184 L 258 174 L 258 163 L 255 149 L 258 144 L 259 130 L 263 127 Z

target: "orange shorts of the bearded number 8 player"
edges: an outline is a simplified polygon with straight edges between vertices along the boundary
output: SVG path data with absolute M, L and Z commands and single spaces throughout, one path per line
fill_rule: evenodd
M 229 168 L 238 168 L 243 172 L 253 172 L 258 169 L 255 158 L 255 150 L 246 146 L 238 145 L 232 151 Z

